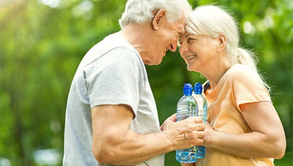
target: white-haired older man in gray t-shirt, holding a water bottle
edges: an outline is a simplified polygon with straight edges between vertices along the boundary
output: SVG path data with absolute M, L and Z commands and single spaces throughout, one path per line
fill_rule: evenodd
M 198 117 L 159 125 L 145 64 L 176 51 L 191 7 L 187 0 L 128 0 L 122 30 L 94 45 L 71 84 L 64 166 L 164 166 L 164 153 L 202 145 Z

